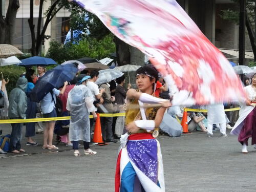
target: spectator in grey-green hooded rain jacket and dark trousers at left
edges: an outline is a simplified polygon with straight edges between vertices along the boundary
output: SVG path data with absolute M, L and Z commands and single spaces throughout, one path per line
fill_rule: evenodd
M 9 117 L 10 119 L 25 119 L 27 110 L 26 89 L 28 85 L 27 78 L 19 77 L 14 88 L 10 93 Z M 12 133 L 9 143 L 9 152 L 18 154 L 25 152 L 20 145 L 22 140 L 23 123 L 11 123 Z

